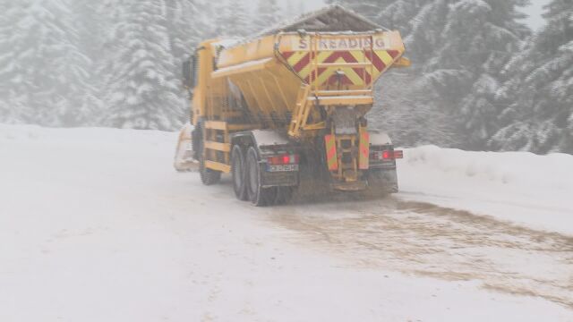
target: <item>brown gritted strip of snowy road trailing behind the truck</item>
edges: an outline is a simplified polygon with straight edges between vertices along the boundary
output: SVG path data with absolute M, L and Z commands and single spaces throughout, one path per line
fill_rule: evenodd
M 285 208 L 276 219 L 304 232 L 304 244 L 310 240 L 359 267 L 477 280 L 573 309 L 573 237 L 394 198 L 331 206 L 328 216 L 324 207 Z

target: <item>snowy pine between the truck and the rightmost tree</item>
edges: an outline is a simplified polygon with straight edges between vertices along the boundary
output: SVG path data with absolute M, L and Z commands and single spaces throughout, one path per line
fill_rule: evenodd
M 461 148 L 483 149 L 497 131 L 495 118 L 500 108 L 495 97 L 500 71 L 529 33 L 518 22 L 524 17 L 517 9 L 525 4 L 524 0 L 460 0 L 454 4 L 438 0 L 421 11 L 432 12 L 430 23 L 412 31 L 409 42 L 428 54 L 417 57 L 425 61 L 425 87 L 437 94 L 437 102 L 457 120 Z

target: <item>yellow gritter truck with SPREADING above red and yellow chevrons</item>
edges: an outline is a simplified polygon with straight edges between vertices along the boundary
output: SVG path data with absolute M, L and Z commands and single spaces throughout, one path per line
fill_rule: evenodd
M 336 191 L 398 191 L 389 136 L 368 129 L 373 85 L 407 66 L 398 31 L 334 5 L 230 42 L 208 40 L 184 64 L 201 181 L 232 174 L 237 199 L 286 202 L 304 182 Z M 192 133 L 189 133 L 192 131 Z

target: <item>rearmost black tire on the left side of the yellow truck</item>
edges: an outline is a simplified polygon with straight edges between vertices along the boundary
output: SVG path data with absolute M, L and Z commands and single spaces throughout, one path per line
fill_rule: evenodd
M 247 194 L 252 205 L 257 207 L 272 205 L 277 198 L 277 187 L 262 188 L 261 166 L 255 148 L 250 147 L 246 156 Z

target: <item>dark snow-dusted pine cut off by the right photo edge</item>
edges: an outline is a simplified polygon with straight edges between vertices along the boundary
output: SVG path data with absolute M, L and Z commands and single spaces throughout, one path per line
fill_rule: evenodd
M 573 153 L 573 2 L 553 0 L 544 10 L 545 26 L 506 68 L 506 126 L 492 148 Z

